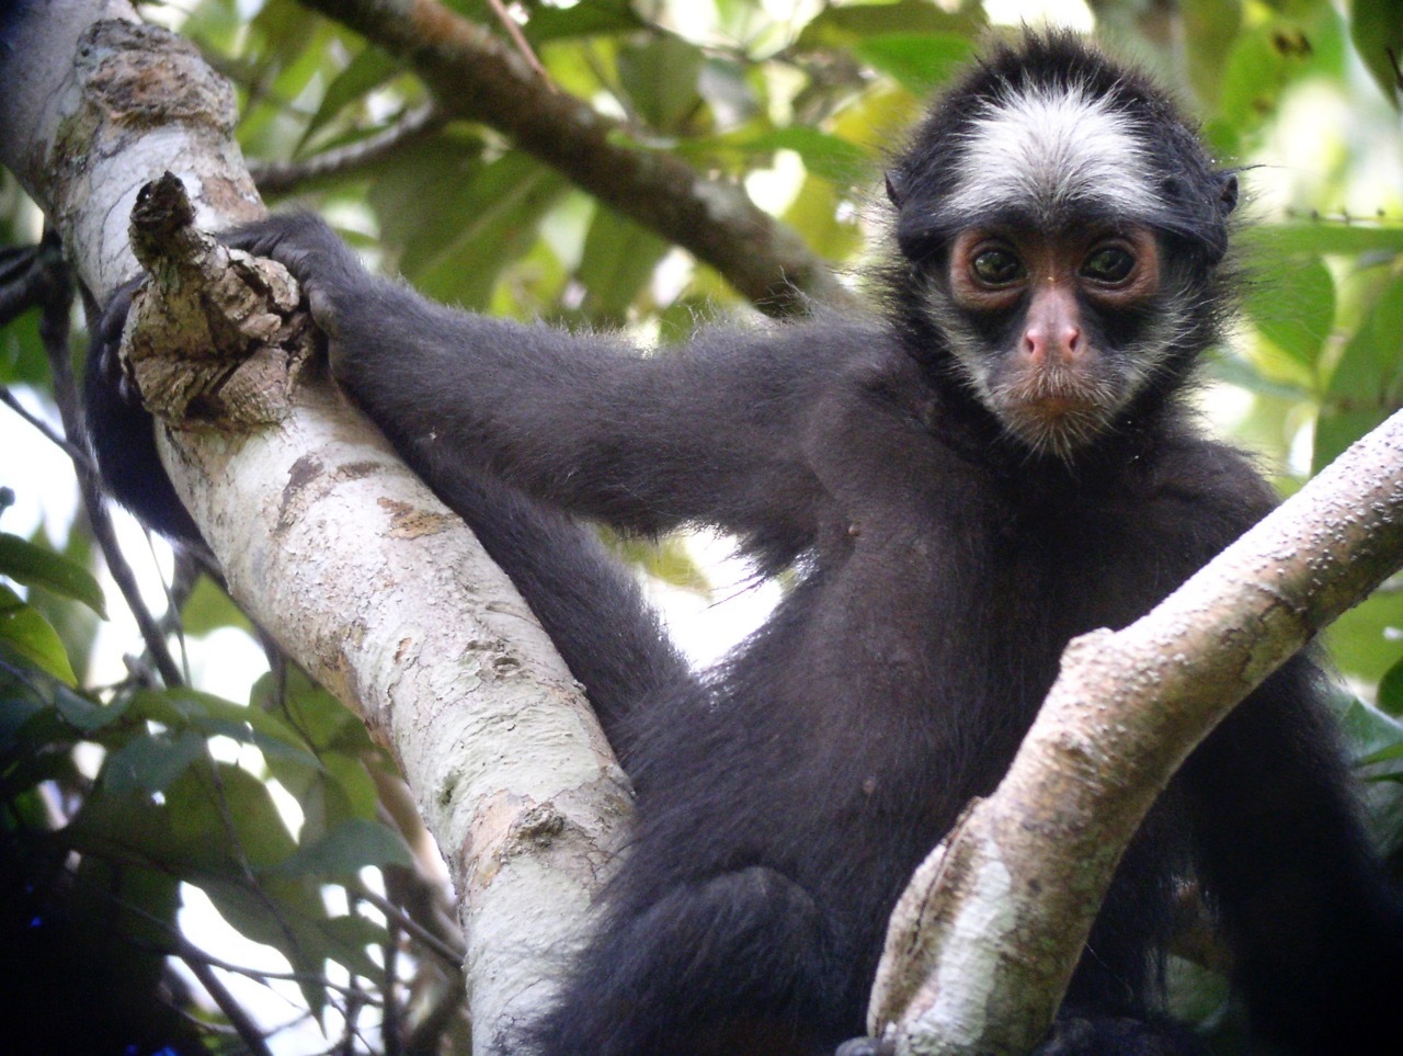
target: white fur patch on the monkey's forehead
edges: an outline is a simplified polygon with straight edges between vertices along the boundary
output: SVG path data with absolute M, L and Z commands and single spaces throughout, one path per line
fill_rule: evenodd
M 1134 124 L 1080 86 L 988 104 L 962 146 L 958 184 L 943 206 L 957 215 L 1101 205 L 1148 219 L 1164 206 Z

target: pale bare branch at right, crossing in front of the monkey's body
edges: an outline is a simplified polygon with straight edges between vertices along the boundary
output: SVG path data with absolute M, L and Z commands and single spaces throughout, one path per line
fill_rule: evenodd
M 1076 639 L 1013 767 L 892 917 L 874 1032 L 1024 1053 L 1052 1022 L 1125 844 L 1271 671 L 1403 565 L 1403 413 L 1149 615 Z

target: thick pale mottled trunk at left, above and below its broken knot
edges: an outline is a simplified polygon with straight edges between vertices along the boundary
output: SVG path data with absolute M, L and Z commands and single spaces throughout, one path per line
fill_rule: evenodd
M 0 161 L 98 303 L 137 271 L 128 218 L 161 173 L 201 227 L 261 213 L 231 93 L 188 44 L 116 0 L 15 0 L 0 31 Z M 152 261 L 167 288 L 202 281 Z M 462 896 L 474 1052 L 506 1052 L 609 861 L 626 782 L 509 581 L 379 434 L 325 385 L 271 417 L 230 434 L 187 414 L 171 479 L 251 618 L 398 757 Z

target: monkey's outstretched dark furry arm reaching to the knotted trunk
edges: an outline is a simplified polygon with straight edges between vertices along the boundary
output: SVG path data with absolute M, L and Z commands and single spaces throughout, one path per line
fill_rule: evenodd
M 230 242 L 297 277 L 338 382 L 431 484 L 485 468 L 626 531 L 714 524 L 766 560 L 812 541 L 821 491 L 807 433 L 833 376 L 870 347 L 860 327 L 711 329 L 641 355 L 606 336 L 434 305 L 366 274 L 311 216 Z

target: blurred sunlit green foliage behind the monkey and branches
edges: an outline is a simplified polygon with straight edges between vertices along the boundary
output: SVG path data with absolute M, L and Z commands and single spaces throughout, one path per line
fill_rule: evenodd
M 617 145 L 744 187 L 859 295 L 884 157 L 929 93 L 1020 21 L 1094 32 L 1172 86 L 1242 169 L 1243 313 L 1205 371 L 1204 413 L 1289 493 L 1403 406 L 1403 0 L 443 6 L 615 119 Z M 452 119 L 412 66 L 345 24 L 295 0 L 142 11 L 236 84 L 271 202 L 321 209 L 435 298 L 664 347 L 758 312 L 490 125 Z M 32 250 L 41 233 L 0 174 L 0 286 L 41 257 L 56 267 Z M 79 501 L 58 442 L 79 323 L 60 298 L 0 330 L 0 959 L 14 969 L 0 1001 L 34 1024 L 10 1050 L 467 1052 L 462 939 L 390 761 L 198 556 L 125 517 L 114 535 Z M 696 545 L 620 549 L 711 604 Z M 114 581 L 115 553 L 137 591 Z M 1400 638 L 1395 581 L 1329 640 L 1397 872 Z M 1237 1052 L 1212 963 L 1176 962 L 1176 1003 Z

